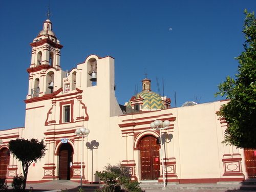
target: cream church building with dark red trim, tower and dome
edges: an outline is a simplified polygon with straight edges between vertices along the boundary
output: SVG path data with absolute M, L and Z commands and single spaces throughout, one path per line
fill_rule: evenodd
M 113 57 L 90 55 L 62 71 L 63 46 L 49 19 L 30 46 L 25 126 L 0 131 L 1 178 L 12 181 L 22 173 L 21 163 L 8 152 L 8 142 L 16 138 L 43 139 L 47 145 L 46 156 L 29 167 L 28 182 L 78 181 L 81 167 L 84 183 L 99 182 L 94 174 L 108 163 L 130 167 L 132 178 L 141 182 L 163 182 L 163 175 L 178 183 L 255 177 L 248 168 L 254 151 L 222 143 L 227 123 L 217 112 L 228 101 L 170 108 L 170 99 L 152 92 L 145 78 L 142 92 L 121 106 Z M 155 120 L 170 124 L 160 134 L 150 126 Z M 85 138 L 75 134 L 81 127 L 90 130 Z

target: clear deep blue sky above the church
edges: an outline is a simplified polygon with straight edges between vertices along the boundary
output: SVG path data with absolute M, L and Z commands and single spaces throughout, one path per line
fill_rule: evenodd
M 46 20 L 47 1 L 0 1 L 2 73 L 0 130 L 24 126 L 31 60 L 30 42 Z M 243 51 L 244 9 L 254 0 L 216 1 L 53 1 L 53 31 L 60 44 L 62 70 L 90 54 L 115 58 L 116 97 L 120 104 L 141 91 L 141 80 L 172 99 L 200 103 L 214 97 L 227 75 L 234 76 Z

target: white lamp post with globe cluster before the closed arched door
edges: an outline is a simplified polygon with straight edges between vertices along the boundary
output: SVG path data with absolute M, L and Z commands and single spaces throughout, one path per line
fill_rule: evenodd
M 165 182 L 165 174 L 164 174 L 164 164 L 163 164 L 163 146 L 162 146 L 162 130 L 168 129 L 168 125 L 170 124 L 170 121 L 165 120 L 164 122 L 162 120 L 155 120 L 150 123 L 150 126 L 152 129 L 160 130 L 160 143 L 161 143 L 161 156 L 162 156 L 162 172 L 163 172 L 163 187 L 166 186 Z

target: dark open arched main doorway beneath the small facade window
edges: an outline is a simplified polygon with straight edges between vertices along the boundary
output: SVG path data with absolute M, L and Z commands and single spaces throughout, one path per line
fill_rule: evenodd
M 73 156 L 73 148 L 69 143 L 63 143 L 59 149 L 59 179 L 70 180 L 70 169 Z

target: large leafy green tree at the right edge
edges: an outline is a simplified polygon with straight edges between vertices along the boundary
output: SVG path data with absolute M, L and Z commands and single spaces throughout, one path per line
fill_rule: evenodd
M 243 33 L 244 51 L 236 58 L 239 62 L 235 78 L 226 77 L 218 86 L 221 95 L 230 99 L 219 115 L 227 122 L 224 141 L 241 148 L 256 148 L 256 20 L 254 13 L 245 12 Z

